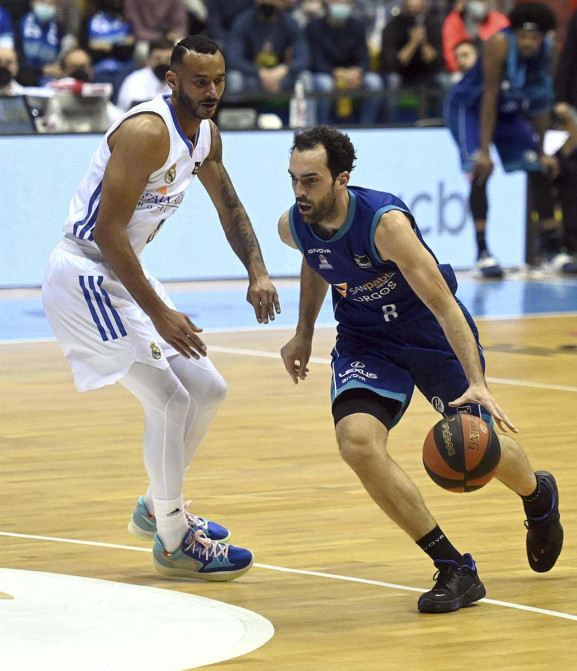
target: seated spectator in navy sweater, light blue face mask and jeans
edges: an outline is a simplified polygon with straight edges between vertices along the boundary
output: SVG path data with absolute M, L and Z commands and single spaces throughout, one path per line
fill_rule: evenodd
M 353 4 L 352 0 L 328 0 L 328 15 L 311 21 L 306 27 L 314 87 L 320 93 L 330 93 L 335 88 L 362 87 L 370 93 L 383 88 L 381 76 L 367 71 L 369 50 L 365 26 L 352 17 Z M 360 123 L 376 123 L 380 105 L 381 97 L 363 99 Z M 317 101 L 318 123 L 330 122 L 330 106 L 328 98 Z M 336 110 L 338 116 L 342 115 L 338 102 Z

